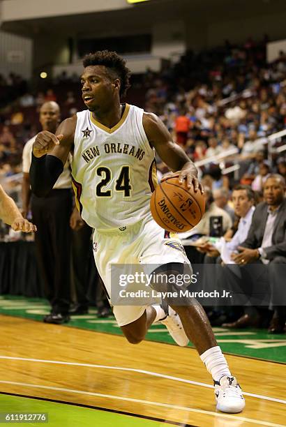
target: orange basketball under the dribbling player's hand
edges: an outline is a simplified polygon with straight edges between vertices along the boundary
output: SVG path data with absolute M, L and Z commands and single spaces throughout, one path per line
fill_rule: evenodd
M 204 215 L 204 196 L 182 184 L 179 178 L 167 179 L 156 188 L 150 200 L 150 209 L 156 223 L 167 231 L 186 232 L 200 222 Z

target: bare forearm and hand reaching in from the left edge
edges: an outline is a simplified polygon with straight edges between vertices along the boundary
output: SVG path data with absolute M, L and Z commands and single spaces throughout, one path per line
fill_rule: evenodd
M 37 227 L 23 218 L 14 200 L 0 186 L 0 219 L 10 225 L 15 231 L 25 233 L 36 232 Z

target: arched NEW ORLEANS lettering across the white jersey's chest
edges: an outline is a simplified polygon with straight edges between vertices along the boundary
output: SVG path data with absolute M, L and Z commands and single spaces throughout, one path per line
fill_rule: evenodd
M 86 130 L 82 130 L 82 132 L 86 132 Z M 121 144 L 121 142 L 118 142 L 117 144 L 114 144 L 114 143 L 104 144 L 104 152 L 107 154 L 110 154 L 110 153 L 128 154 L 128 156 L 133 156 L 138 160 L 142 160 L 142 158 L 145 155 L 145 151 L 143 151 L 142 149 L 140 148 L 136 149 L 134 145 Z M 96 146 L 96 147 L 90 147 L 89 149 L 85 150 L 84 153 L 82 153 L 82 157 L 84 158 L 86 163 L 89 163 L 90 160 L 100 156 L 100 154 L 101 153 L 98 149 L 98 146 Z

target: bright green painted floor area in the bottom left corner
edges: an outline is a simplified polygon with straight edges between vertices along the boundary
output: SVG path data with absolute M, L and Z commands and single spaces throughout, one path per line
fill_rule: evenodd
M 0 412 L 18 414 L 47 414 L 47 422 L 17 422 L 9 423 L 21 426 L 47 426 L 47 427 L 163 427 L 174 426 L 165 421 L 153 421 L 134 417 L 127 414 L 98 410 L 89 407 L 67 405 L 65 403 L 51 402 L 24 398 L 8 394 L 0 394 Z M 3 417 L 3 415 L 2 415 Z M 0 422 L 0 424 L 2 424 Z M 5 423 L 7 424 L 7 423 Z

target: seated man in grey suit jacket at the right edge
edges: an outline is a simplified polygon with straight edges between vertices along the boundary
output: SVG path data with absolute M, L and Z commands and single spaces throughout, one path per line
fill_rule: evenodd
M 285 274 L 286 264 L 286 198 L 285 179 L 278 174 L 271 174 L 264 183 L 264 200 L 258 204 L 253 213 L 253 220 L 248 237 L 239 246 L 239 253 L 232 255 L 236 264 L 269 264 L 271 284 L 271 305 L 274 310 L 269 326 L 269 333 L 285 331 Z M 284 279 L 284 280 L 283 280 Z M 250 315 L 245 314 L 231 327 L 243 327 L 251 323 Z M 226 324 L 225 324 L 226 326 Z M 228 325 L 230 326 L 230 324 Z

